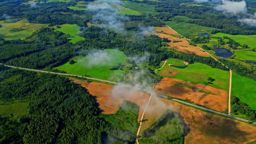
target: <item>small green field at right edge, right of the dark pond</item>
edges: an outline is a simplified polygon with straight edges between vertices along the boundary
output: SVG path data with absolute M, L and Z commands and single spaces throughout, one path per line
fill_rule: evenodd
M 256 51 L 239 51 L 234 53 L 235 59 L 243 61 L 256 61 Z

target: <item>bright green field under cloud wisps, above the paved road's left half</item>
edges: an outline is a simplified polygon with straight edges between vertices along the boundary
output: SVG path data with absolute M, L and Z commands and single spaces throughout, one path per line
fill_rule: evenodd
M 125 64 L 126 56 L 123 52 L 106 49 L 104 50 L 108 57 L 98 57 L 90 59 L 90 56 L 78 56 L 74 58 L 76 63 L 74 64 L 63 64 L 56 69 L 66 71 L 68 74 L 74 75 L 88 75 L 103 80 L 117 81 L 120 80 L 123 75 L 123 70 L 109 70 L 110 68 L 120 64 Z M 98 61 L 95 65 L 91 65 L 91 61 Z

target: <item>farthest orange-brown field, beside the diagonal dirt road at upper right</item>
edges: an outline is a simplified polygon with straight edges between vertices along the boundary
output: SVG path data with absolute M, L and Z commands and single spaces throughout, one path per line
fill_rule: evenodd
M 188 53 L 195 53 L 195 55 L 208 57 L 209 55 L 206 52 L 203 52 L 201 49 L 199 49 L 196 46 L 189 45 L 188 41 L 183 38 L 176 38 L 172 35 L 178 35 L 176 32 L 172 31 L 172 29 L 168 27 L 155 27 L 155 30 L 158 32 L 164 32 L 164 33 L 155 33 L 155 35 L 158 35 L 160 38 L 167 38 L 168 40 L 171 40 L 171 42 L 167 43 L 168 48 L 172 48 L 177 51 L 182 52 L 188 52 Z M 169 35 L 172 34 L 172 35 Z M 172 43 L 173 40 L 180 41 L 178 43 Z

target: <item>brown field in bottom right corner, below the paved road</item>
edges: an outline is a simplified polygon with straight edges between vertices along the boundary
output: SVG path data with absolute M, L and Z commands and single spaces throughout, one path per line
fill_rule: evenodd
M 159 101 L 159 98 L 153 98 L 149 107 L 158 104 L 158 109 L 153 112 L 150 109 L 146 111 L 141 131 L 148 128 L 166 109 L 171 109 L 181 113 L 187 123 L 185 144 L 209 142 L 246 144 L 256 140 L 256 127 L 253 125 L 196 110 L 167 99 L 160 99 L 161 103 L 156 101 Z

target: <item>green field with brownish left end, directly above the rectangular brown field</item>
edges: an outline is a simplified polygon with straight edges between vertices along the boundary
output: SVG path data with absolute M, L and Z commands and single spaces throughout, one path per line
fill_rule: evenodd
M 215 69 L 202 63 L 188 64 L 188 67 L 184 69 L 165 64 L 165 66 L 156 73 L 178 80 L 223 89 L 225 91 L 229 88 L 229 71 Z M 212 77 L 215 81 L 209 83 L 207 80 L 208 77 Z

